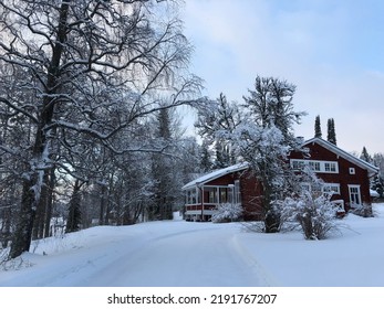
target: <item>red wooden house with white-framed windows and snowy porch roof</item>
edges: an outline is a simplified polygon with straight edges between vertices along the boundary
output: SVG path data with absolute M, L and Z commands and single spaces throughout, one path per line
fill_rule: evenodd
M 308 153 L 289 154 L 293 170 L 299 172 L 303 166 L 309 166 L 323 180 L 323 191 L 332 191 L 332 200 L 345 211 L 354 205 L 371 204 L 370 178 L 377 173 L 376 167 L 320 138 L 307 140 L 303 146 L 309 149 Z M 255 213 L 260 213 L 257 207 L 262 188 L 247 163 L 205 174 L 184 185 L 183 190 L 186 220 L 208 221 L 221 203 L 240 203 L 245 220 L 260 219 Z

